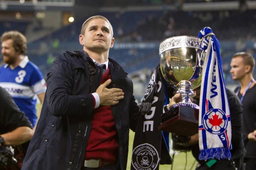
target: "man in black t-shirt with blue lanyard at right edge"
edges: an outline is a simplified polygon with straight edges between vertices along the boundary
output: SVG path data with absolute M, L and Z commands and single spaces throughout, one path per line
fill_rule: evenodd
M 239 52 L 232 57 L 230 73 L 240 86 L 235 89 L 243 105 L 243 138 L 246 146 L 244 162 L 246 170 L 256 169 L 256 141 L 249 140 L 250 132 L 256 129 L 256 82 L 253 78 L 255 60 L 248 52 Z

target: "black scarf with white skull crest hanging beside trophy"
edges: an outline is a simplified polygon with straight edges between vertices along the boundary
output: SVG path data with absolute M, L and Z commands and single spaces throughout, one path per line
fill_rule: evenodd
M 159 164 L 172 164 L 162 132 L 158 130 L 165 102 L 163 80 L 158 65 L 140 105 L 141 117 L 135 130 L 131 170 L 158 170 Z

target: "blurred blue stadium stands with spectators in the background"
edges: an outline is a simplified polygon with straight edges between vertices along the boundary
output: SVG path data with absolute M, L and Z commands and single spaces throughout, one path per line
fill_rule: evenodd
M 249 51 L 256 56 L 256 10 L 186 12 L 170 11 L 163 7 L 158 11 L 96 14 L 109 18 L 112 23 L 115 45 L 110 50 L 110 57 L 121 63 L 128 73 L 144 68 L 153 69 L 159 62 L 159 43 L 164 39 L 181 35 L 197 36 L 204 27 L 211 27 L 220 41 L 226 84 L 234 83 L 229 73 L 229 63 L 234 53 Z M 65 50 L 81 50 L 77 38 L 83 22 L 84 20 L 73 22 L 48 36 L 28 43 L 27 55 L 44 75 L 58 54 Z M 0 21 L 1 28 L 4 28 L 0 30 L 0 34 L 18 30 L 26 35 L 26 25 L 27 22 L 21 21 Z M 152 42 L 152 45 L 137 45 L 147 42 Z

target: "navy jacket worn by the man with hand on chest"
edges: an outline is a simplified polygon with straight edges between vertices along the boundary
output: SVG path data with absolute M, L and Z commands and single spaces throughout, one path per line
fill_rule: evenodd
M 93 70 L 88 66 L 92 66 Z M 117 169 L 125 170 L 129 128 L 135 130 L 138 106 L 133 84 L 125 71 L 109 58 L 112 82 L 108 88 L 120 88 L 124 99 L 112 106 L 118 134 Z M 93 85 L 90 85 L 93 82 Z M 91 132 L 93 97 L 101 80 L 101 70 L 88 54 L 66 51 L 52 64 L 47 74 L 47 90 L 41 116 L 31 139 L 22 170 L 80 170 Z

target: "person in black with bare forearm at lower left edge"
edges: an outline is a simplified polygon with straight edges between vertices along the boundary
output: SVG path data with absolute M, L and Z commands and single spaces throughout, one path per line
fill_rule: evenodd
M 20 165 L 13 159 L 14 152 L 10 145 L 18 146 L 29 141 L 33 133 L 32 124 L 25 113 L 20 111 L 12 96 L 0 87 L 0 169 Z

